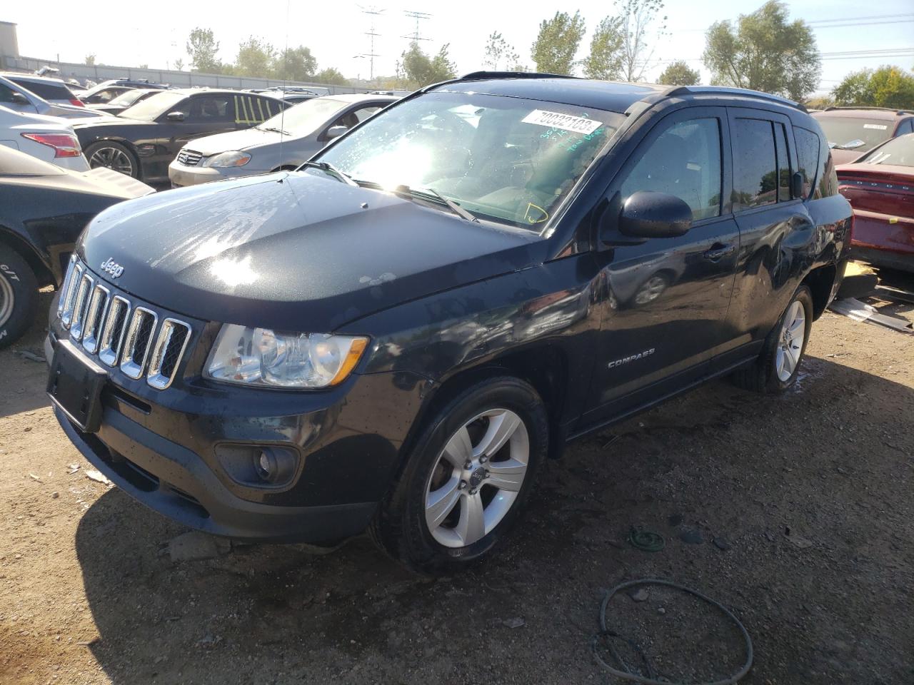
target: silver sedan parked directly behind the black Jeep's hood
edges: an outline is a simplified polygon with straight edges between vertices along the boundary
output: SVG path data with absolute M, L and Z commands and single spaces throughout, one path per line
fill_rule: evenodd
M 294 169 L 360 121 L 398 100 L 387 95 L 312 98 L 244 131 L 188 142 L 168 166 L 172 185 Z

